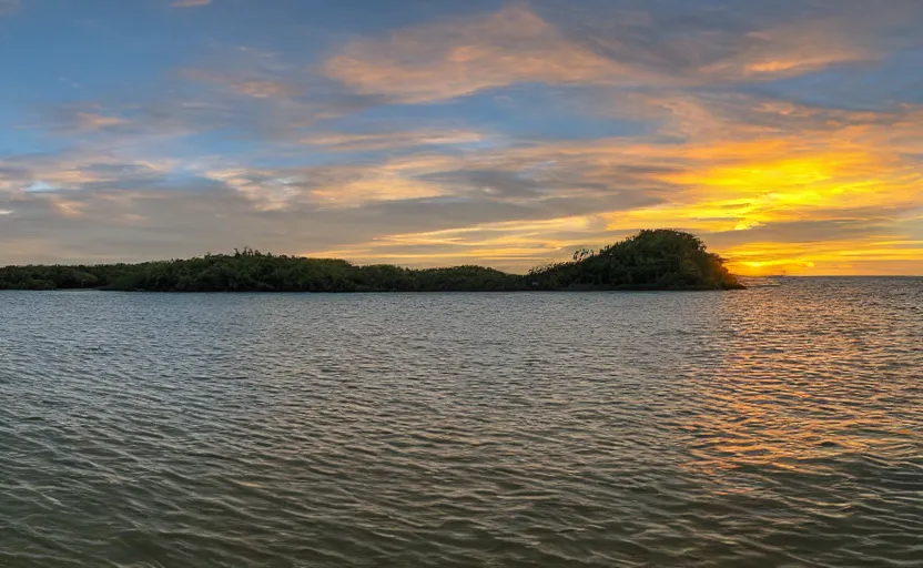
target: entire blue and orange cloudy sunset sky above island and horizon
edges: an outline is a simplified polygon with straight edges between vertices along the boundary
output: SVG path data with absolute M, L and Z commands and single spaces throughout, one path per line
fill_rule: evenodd
M 0 0 L 0 265 L 923 274 L 920 0 Z

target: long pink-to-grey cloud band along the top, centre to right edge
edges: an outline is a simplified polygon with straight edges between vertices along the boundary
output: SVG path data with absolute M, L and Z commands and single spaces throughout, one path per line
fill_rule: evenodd
M 681 8 L 680 8 L 681 9 Z M 579 12 L 579 10 L 577 10 Z M 516 83 L 678 87 L 764 81 L 880 59 L 897 11 L 808 13 L 716 29 L 661 12 L 596 14 L 555 26 L 526 4 L 354 40 L 324 63 L 355 92 L 418 103 Z M 870 31 L 871 30 L 871 31 Z

